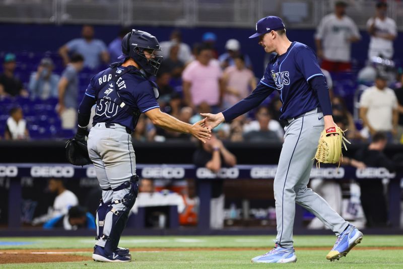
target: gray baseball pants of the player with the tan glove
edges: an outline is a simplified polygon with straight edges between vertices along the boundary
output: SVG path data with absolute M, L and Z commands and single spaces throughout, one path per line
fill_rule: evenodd
M 288 122 L 290 125 L 285 127 L 285 140 L 274 180 L 276 243 L 287 248 L 293 246 L 295 203 L 313 213 L 336 235 L 349 225 L 322 197 L 307 187 L 312 159 L 324 128 L 323 113 L 314 109 Z

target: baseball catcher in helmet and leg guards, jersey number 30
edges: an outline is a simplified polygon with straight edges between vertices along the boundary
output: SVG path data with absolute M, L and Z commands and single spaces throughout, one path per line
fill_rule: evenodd
M 132 29 L 123 37 L 122 55 L 118 57 L 121 61 L 111 63 L 90 80 L 79 106 L 77 134 L 66 144 L 71 163 L 94 164 L 102 188 L 92 254 L 96 261 L 131 261 L 129 249 L 118 244 L 139 191 L 131 133 L 141 113 L 155 125 L 190 133 L 203 142 L 211 137 L 211 130 L 204 126 L 206 119 L 191 125 L 161 112 L 158 85 L 154 82 L 162 61 L 162 56 L 155 54 L 159 50 L 157 38 L 150 33 Z M 95 115 L 86 142 L 94 104 Z

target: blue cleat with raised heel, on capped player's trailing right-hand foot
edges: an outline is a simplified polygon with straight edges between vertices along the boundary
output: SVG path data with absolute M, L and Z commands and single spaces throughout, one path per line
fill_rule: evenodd
M 326 255 L 326 259 L 333 261 L 346 256 L 353 247 L 361 243 L 362 237 L 362 232 L 350 224 L 346 230 L 337 237 L 333 248 Z

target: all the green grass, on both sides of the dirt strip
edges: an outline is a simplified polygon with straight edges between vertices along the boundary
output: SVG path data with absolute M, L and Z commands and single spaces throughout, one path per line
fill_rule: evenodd
M 271 249 L 275 236 L 126 236 L 122 237 L 121 246 L 130 247 L 134 262 L 101 263 L 91 260 L 90 252 L 79 252 L 88 256 L 88 261 L 1 264 L 2 268 L 403 268 L 403 250 L 360 250 L 362 247 L 403 247 L 403 236 L 364 236 L 360 245 L 347 257 L 330 262 L 325 256 L 334 243 L 334 236 L 295 236 L 297 263 L 293 264 L 252 264 L 250 258 L 264 253 L 264 250 L 233 251 L 136 251 L 136 248 L 169 248 L 169 247 L 245 247 Z M 93 239 L 89 237 L 36 237 L 36 238 L 1 238 L 0 241 L 33 242 L 30 245 L 7 246 L 1 249 L 29 248 L 91 248 Z M 304 250 L 299 247 L 326 247 L 325 250 Z M 0 256 L 1 257 L 1 256 Z M 86 265 L 85 265 L 86 264 Z

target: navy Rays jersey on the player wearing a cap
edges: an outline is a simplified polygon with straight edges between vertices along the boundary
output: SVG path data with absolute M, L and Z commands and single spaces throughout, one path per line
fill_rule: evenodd
M 315 52 L 305 44 L 292 42 L 286 53 L 273 57 L 267 64 L 259 84 L 279 92 L 283 103 L 280 119 L 287 119 L 319 106 L 317 94 L 308 83 L 316 76 L 323 73 Z

